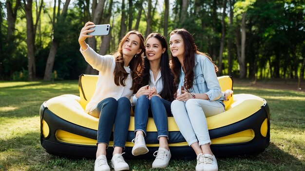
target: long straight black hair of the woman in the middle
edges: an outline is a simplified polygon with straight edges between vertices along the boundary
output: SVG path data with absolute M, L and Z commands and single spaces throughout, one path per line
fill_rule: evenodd
M 175 92 L 175 86 L 173 85 L 173 76 L 171 73 L 170 65 L 169 65 L 169 54 L 168 54 L 168 46 L 166 39 L 163 35 L 158 33 L 151 33 L 147 36 L 146 42 L 149 38 L 156 38 L 161 43 L 162 49 L 165 48 L 164 53 L 161 55 L 160 61 L 160 70 L 161 70 L 161 78 L 163 81 L 163 89 L 158 94 L 165 100 L 172 102 L 173 94 Z M 150 80 L 150 63 L 147 57 L 144 57 L 144 69 L 143 69 L 143 81 L 142 86 L 148 85 Z

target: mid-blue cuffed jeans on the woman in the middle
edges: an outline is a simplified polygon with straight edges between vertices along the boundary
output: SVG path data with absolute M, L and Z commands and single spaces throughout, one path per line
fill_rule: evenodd
M 152 113 L 159 137 L 169 137 L 167 114 L 171 114 L 171 102 L 152 96 L 149 100 L 145 95 L 138 98 L 134 112 L 134 133 L 143 131 L 146 136 L 146 127 L 149 113 Z

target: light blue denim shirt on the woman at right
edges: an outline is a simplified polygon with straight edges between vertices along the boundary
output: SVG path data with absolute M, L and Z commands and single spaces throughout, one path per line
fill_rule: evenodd
M 195 67 L 193 86 L 188 90 L 191 93 L 205 93 L 209 101 L 219 101 L 223 103 L 221 88 L 217 79 L 214 65 L 210 59 L 202 54 L 195 54 Z M 181 68 L 179 89 L 184 85 L 184 72 Z

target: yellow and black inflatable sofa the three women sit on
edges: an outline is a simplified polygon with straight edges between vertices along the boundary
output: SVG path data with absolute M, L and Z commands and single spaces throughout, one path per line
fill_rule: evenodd
M 230 76 L 218 77 L 222 91 L 233 88 Z M 65 94 L 44 102 L 40 107 L 40 142 L 47 153 L 73 158 L 95 158 L 98 118 L 85 113 L 96 86 L 97 75 L 79 76 L 79 95 Z M 211 150 L 216 157 L 263 152 L 270 141 L 270 114 L 267 102 L 251 94 L 234 94 L 225 102 L 226 111 L 208 117 Z M 173 119 L 168 118 L 172 158 L 194 158 Z M 158 149 L 157 130 L 152 118 L 145 141 L 149 153 L 133 156 L 134 117 L 131 112 L 125 158 L 153 158 Z M 111 136 L 107 154 L 113 152 Z M 111 157 L 111 156 L 108 156 Z

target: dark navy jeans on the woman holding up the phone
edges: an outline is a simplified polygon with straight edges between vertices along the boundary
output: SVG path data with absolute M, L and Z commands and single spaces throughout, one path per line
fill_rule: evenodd
M 110 97 L 102 100 L 91 112 L 99 113 L 97 143 L 109 144 L 114 126 L 114 147 L 125 148 L 130 122 L 131 103 L 128 98 L 121 97 L 117 101 Z

